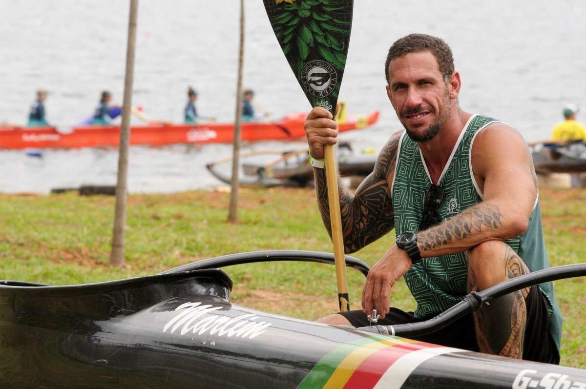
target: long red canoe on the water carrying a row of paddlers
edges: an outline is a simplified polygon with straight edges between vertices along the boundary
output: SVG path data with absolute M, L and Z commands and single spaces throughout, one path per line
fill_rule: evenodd
M 292 114 L 280 122 L 243 123 L 243 141 L 284 141 L 305 137 L 303 124 L 306 114 Z M 370 115 L 347 117 L 339 131 L 365 128 L 376 123 L 379 111 Z M 0 127 L 0 149 L 81 148 L 117 146 L 117 126 L 93 125 L 76 127 L 71 132 L 59 132 L 54 127 Z M 233 141 L 234 125 L 222 123 L 138 125 L 131 127 L 131 145 L 161 146 L 178 143 L 206 144 Z

